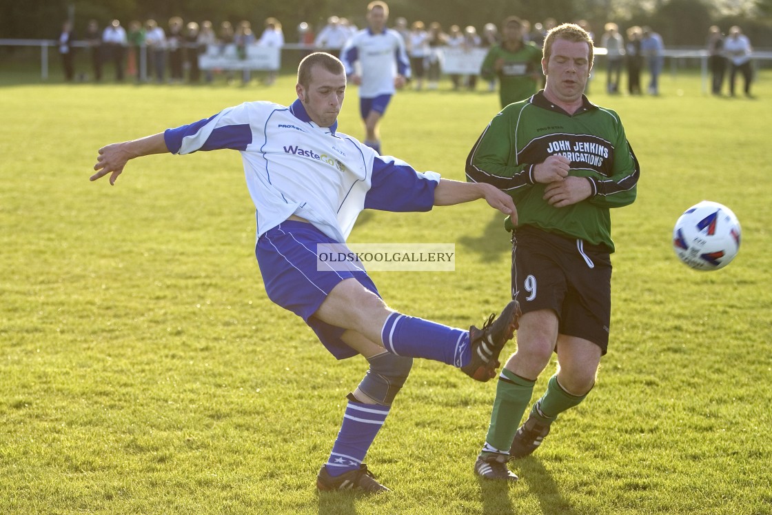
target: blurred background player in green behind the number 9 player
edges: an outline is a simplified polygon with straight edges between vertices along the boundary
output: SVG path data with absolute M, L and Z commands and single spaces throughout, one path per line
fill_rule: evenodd
M 516 16 L 504 20 L 501 32 L 503 40 L 488 51 L 480 75 L 484 80 L 499 80 L 499 100 L 505 107 L 536 93 L 541 50 L 523 39 L 523 22 Z

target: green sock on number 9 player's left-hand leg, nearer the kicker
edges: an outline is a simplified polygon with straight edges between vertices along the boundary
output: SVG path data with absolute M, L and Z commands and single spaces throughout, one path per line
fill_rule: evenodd
M 523 418 L 533 395 L 533 385 L 536 385 L 536 381 L 521 378 L 506 368 L 501 371 L 485 449 L 493 447 L 503 452 L 510 451 L 520 418 Z

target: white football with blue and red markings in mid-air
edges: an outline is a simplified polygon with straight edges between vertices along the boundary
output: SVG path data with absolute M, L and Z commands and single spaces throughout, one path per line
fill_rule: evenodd
M 740 249 L 740 222 L 726 205 L 703 200 L 675 222 L 673 249 L 693 269 L 723 268 Z

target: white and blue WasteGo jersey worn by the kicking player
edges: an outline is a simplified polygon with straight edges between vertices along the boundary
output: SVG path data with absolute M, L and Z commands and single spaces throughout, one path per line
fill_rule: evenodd
M 240 151 L 257 209 L 257 237 L 290 215 L 344 242 L 364 208 L 429 211 L 439 174 L 379 156 L 332 127 L 310 120 L 303 103 L 246 102 L 164 132 L 174 154 Z

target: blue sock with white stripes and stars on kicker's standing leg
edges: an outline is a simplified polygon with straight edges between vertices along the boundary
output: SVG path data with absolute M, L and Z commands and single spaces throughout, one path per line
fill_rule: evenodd
M 359 469 L 367 449 L 370 449 L 375 435 L 384 425 L 389 409 L 391 406 L 348 401 L 330 459 L 327 459 L 327 473 L 330 476 L 340 476 Z

